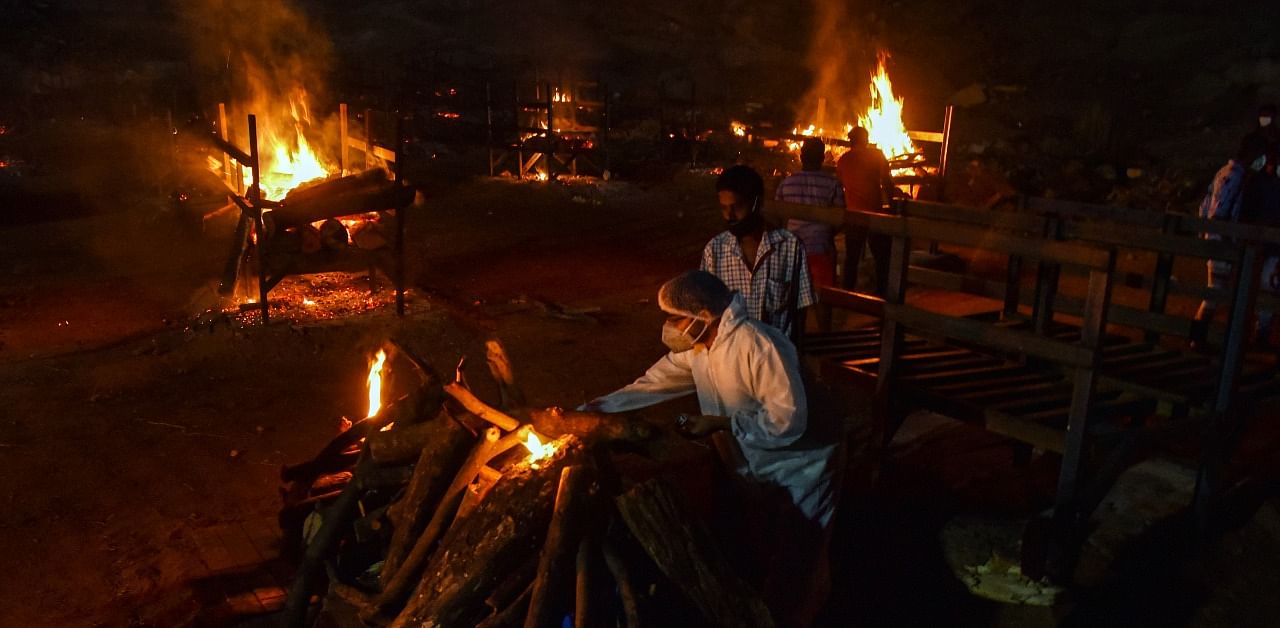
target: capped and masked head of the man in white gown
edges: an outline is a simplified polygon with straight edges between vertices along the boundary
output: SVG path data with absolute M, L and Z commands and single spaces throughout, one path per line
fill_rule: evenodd
M 671 315 L 662 326 L 663 344 L 678 353 L 712 341 L 716 321 L 732 302 L 733 292 L 705 270 L 676 275 L 658 289 L 658 307 Z

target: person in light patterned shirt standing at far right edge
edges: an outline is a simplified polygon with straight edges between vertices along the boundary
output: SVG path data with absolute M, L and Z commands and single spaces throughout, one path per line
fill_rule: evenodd
M 1199 217 L 1229 223 L 1239 221 L 1242 201 L 1244 198 L 1244 184 L 1252 173 L 1262 170 L 1266 165 L 1266 151 L 1267 142 L 1261 134 L 1249 133 L 1244 136 L 1239 150 L 1235 151 L 1235 157 L 1229 160 L 1213 175 L 1213 183 L 1210 184 L 1204 200 L 1201 201 Z M 1216 233 L 1207 233 L 1204 238 L 1211 240 L 1222 239 Z M 1210 288 L 1225 288 L 1230 274 L 1231 265 L 1229 262 L 1221 260 L 1208 261 Z M 1197 331 L 1193 344 L 1203 341 L 1203 334 L 1207 333 L 1207 325 L 1213 320 L 1216 310 L 1217 303 L 1213 301 L 1204 299 L 1201 302 L 1199 310 L 1196 311 L 1196 320 L 1206 327 Z

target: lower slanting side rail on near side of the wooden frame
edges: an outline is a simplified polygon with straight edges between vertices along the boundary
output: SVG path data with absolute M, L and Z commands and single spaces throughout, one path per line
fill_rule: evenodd
M 906 304 L 884 304 L 886 318 L 908 327 L 936 331 L 946 338 L 998 350 L 1025 354 L 1064 366 L 1092 365 L 1094 352 L 1027 331 L 1000 329 L 983 322 L 956 318 Z

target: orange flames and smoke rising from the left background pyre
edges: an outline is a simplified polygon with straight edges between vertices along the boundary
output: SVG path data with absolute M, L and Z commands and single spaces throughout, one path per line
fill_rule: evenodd
M 332 114 L 312 110 L 326 92 L 328 35 L 285 0 L 204 0 L 183 18 L 197 67 L 219 78 L 206 100 L 228 104 L 232 141 L 247 147 L 244 119 L 257 116 L 264 196 L 282 198 L 337 171 Z

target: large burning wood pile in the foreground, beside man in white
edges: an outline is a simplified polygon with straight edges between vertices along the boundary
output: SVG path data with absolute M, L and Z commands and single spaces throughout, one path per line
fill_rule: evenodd
M 383 405 L 393 361 L 413 384 Z M 640 627 L 698 615 L 772 625 L 677 491 L 632 482 L 612 462 L 618 450 L 653 453 L 654 430 L 522 411 L 497 341 L 488 363 L 503 409 L 472 394 L 462 363 L 444 381 L 389 343 L 370 368 L 367 416 L 283 469 L 285 545 L 305 547 L 284 625 L 308 625 L 330 605 L 393 627 L 559 627 L 568 618 Z

